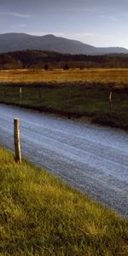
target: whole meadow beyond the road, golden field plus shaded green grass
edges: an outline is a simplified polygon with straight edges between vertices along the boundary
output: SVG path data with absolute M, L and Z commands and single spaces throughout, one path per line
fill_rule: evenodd
M 127 92 L 126 68 L 0 71 L 0 102 L 69 118 L 88 117 L 92 122 L 125 130 L 128 130 Z

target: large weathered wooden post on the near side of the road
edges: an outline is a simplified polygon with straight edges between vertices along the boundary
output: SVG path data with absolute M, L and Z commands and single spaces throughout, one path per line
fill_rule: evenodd
M 19 162 L 21 164 L 19 125 L 20 119 L 14 119 L 15 162 Z

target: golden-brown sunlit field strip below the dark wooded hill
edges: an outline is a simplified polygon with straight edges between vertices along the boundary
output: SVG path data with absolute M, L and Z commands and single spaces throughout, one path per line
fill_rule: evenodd
M 43 69 L 1 70 L 0 82 L 95 82 L 128 84 L 128 68 L 94 68 L 44 71 Z

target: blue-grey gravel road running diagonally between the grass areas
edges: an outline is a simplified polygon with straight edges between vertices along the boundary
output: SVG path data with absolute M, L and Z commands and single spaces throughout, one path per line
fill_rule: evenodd
M 93 199 L 128 217 L 128 133 L 0 104 L 0 144 L 14 149 Z

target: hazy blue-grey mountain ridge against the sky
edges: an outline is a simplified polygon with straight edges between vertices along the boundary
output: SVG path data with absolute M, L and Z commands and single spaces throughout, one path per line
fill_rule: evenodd
M 0 34 L 0 53 L 16 50 L 42 49 L 71 55 L 106 55 L 128 54 L 128 49 L 121 47 L 96 48 L 89 44 L 83 44 L 76 40 L 45 35 L 32 36 L 25 33 Z

